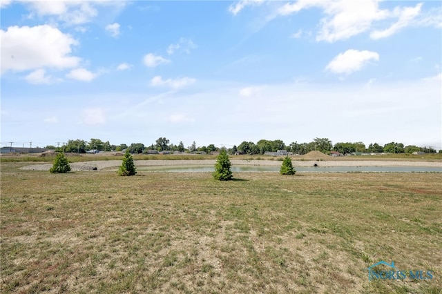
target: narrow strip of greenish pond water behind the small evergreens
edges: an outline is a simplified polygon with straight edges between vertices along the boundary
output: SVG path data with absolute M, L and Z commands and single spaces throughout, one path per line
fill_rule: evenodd
M 428 166 L 295 166 L 297 173 L 442 173 L 442 167 Z M 169 173 L 209 173 L 213 166 L 139 166 L 137 170 Z M 279 172 L 280 166 L 232 166 L 233 173 Z

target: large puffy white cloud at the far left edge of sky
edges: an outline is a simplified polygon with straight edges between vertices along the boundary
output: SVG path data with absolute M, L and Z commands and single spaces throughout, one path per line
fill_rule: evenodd
M 78 42 L 57 28 L 10 26 L 0 30 L 1 72 L 36 68 L 74 68 L 80 58 L 70 56 Z

